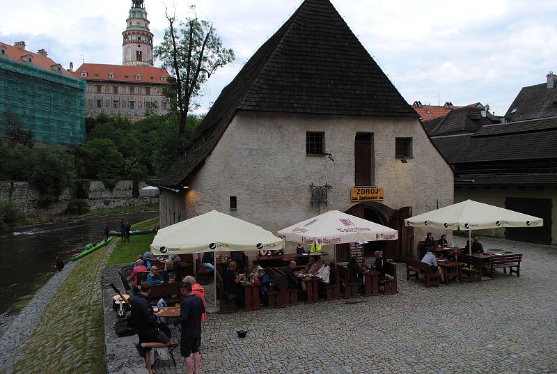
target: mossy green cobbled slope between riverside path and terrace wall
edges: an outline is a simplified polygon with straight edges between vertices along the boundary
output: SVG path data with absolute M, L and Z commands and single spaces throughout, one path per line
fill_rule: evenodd
M 104 373 L 100 274 L 111 248 L 74 265 L 40 314 L 13 373 Z

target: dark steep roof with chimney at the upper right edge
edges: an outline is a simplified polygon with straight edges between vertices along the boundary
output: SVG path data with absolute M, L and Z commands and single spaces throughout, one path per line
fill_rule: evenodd
M 515 113 L 512 113 L 517 109 Z M 557 87 L 547 88 L 547 83 L 523 87 L 505 114 L 505 120 L 529 120 L 557 116 Z

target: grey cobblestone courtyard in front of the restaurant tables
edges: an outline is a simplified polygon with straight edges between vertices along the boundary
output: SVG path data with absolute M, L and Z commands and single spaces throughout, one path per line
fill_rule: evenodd
M 557 249 L 482 242 L 524 254 L 521 276 L 427 289 L 399 264 L 398 295 L 213 314 L 201 373 L 557 373 Z

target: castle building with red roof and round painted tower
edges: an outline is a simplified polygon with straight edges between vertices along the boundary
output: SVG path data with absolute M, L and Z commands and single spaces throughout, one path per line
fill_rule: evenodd
M 84 63 L 72 74 L 87 82 L 86 116 L 119 115 L 132 120 L 168 113 L 162 93 L 168 72 L 153 66 L 152 33 L 143 0 L 134 0 L 123 31 L 123 65 Z

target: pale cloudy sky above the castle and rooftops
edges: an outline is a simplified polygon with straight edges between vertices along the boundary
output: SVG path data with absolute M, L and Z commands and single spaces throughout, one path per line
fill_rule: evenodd
M 178 17 L 195 4 L 210 19 L 237 61 L 214 75 L 202 98 L 207 110 L 251 54 L 301 0 L 146 0 L 155 44 L 165 7 Z M 405 99 L 412 103 L 489 104 L 504 114 L 522 86 L 557 70 L 557 1 L 334 0 L 352 31 Z M 129 0 L 0 0 L 0 40 L 24 40 L 68 66 L 122 63 Z

